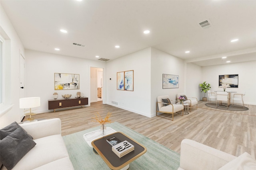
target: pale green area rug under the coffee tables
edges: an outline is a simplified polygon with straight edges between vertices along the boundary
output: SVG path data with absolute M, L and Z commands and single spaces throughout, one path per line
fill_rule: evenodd
M 180 166 L 180 154 L 163 145 L 137 133 L 136 131 L 114 122 L 107 124 L 116 131 L 120 131 L 147 148 L 147 152 L 130 163 L 129 170 L 177 170 Z M 100 129 L 94 127 L 63 137 L 75 170 L 109 170 L 110 168 L 83 138 L 85 133 Z

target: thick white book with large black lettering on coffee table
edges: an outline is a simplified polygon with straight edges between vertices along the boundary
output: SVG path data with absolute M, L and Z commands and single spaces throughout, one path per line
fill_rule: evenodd
M 112 147 L 112 151 L 121 158 L 122 156 L 132 152 L 134 150 L 134 145 L 129 143 L 128 141 L 123 141 L 121 143 L 118 143 L 117 145 L 114 145 Z

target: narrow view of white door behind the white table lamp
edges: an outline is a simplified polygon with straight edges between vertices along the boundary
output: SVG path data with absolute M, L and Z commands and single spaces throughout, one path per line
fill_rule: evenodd
M 19 73 L 19 79 L 20 79 L 20 98 L 25 97 L 25 59 L 20 54 L 20 73 Z M 24 109 L 20 109 L 20 120 L 22 120 L 24 117 Z

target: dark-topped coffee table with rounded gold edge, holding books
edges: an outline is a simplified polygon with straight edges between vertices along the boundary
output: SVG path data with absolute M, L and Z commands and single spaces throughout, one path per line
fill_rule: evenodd
M 120 141 L 128 141 L 134 145 L 134 150 L 119 158 L 113 151 L 112 146 L 106 141 L 111 137 L 117 137 Z M 134 141 L 122 132 L 115 132 L 100 139 L 92 141 L 92 147 L 98 152 L 102 159 L 112 170 L 128 169 L 129 163 L 146 153 L 147 149 L 140 143 Z

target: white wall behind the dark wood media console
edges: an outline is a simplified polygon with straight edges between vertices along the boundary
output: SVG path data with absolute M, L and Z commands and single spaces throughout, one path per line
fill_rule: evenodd
M 48 111 L 48 100 L 52 100 L 52 94 L 84 93 L 88 97 L 90 106 L 90 67 L 105 68 L 105 62 L 68 57 L 39 51 L 25 51 L 26 75 L 25 94 L 26 97 L 38 96 L 41 98 L 41 106 L 36 107 L 36 113 Z M 79 90 L 54 90 L 54 73 L 80 74 Z

